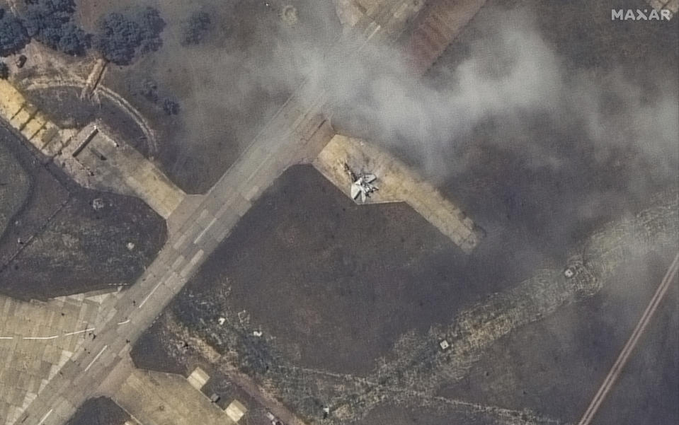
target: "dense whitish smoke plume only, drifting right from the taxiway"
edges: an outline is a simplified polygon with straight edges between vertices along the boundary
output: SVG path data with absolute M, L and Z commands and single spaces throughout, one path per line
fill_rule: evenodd
M 558 153 L 540 140 L 525 140 L 527 117 L 538 115 L 550 125 L 582 130 L 583 144 L 602 163 L 624 150 L 632 167 L 652 163 L 660 174 L 677 167 L 675 86 L 650 95 L 618 70 L 568 71 L 530 11 L 497 12 L 489 21 L 469 59 L 445 70 L 446 81 L 435 86 L 411 76 L 402 54 L 389 47 L 373 46 L 353 59 L 347 52 L 330 63 L 307 58 L 305 71 L 331 92 L 341 130 L 414 156 L 434 177 L 464 170 L 464 156 L 451 163 L 450 152 L 488 120 L 501 123 L 501 148 L 520 149 L 536 167 L 558 168 Z

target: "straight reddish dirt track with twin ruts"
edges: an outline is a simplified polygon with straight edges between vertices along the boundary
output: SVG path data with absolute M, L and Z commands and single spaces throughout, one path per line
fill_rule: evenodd
M 613 364 L 613 367 L 610 369 L 610 372 L 606 376 L 606 379 L 603 381 L 603 384 L 601 384 L 601 387 L 599 388 L 598 392 L 594 395 L 592 402 L 585 411 L 585 414 L 583 414 L 582 419 L 580 419 L 580 421 L 578 422 L 578 425 L 589 425 L 592 419 L 594 418 L 594 415 L 596 414 L 601 403 L 608 394 L 608 391 L 617 380 L 617 377 L 618 375 L 620 375 L 620 372 L 622 371 L 622 368 L 624 367 L 625 363 L 627 363 L 627 360 L 629 359 L 629 354 L 632 353 L 632 350 L 637 345 L 637 342 L 639 342 L 639 337 L 641 337 L 641 334 L 646 329 L 646 325 L 649 324 L 649 320 L 651 320 L 651 317 L 656 312 L 656 308 L 658 308 L 660 301 L 662 301 L 671 282 L 677 275 L 678 266 L 679 266 L 679 253 L 674 257 L 674 261 L 672 262 L 672 264 L 670 264 L 670 267 L 668 267 L 665 277 L 663 277 L 663 280 L 661 281 L 660 285 L 658 285 L 658 289 L 656 289 L 656 293 L 654 293 L 653 298 L 651 298 L 649 305 L 646 306 L 644 314 L 641 315 L 641 319 L 639 319 L 637 327 L 634 328 L 634 332 L 632 332 L 632 335 L 627 340 L 627 344 L 625 344 L 622 351 L 620 351 L 620 356 L 617 357 L 617 360 Z

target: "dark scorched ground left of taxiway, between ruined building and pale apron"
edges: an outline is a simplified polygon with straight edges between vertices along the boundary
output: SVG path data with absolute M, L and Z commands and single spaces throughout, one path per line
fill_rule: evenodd
M 74 184 L 11 130 L 0 127 L 0 137 L 32 181 L 0 240 L 0 291 L 45 300 L 133 284 L 164 244 L 164 220 L 139 199 Z M 102 209 L 93 208 L 94 199 Z

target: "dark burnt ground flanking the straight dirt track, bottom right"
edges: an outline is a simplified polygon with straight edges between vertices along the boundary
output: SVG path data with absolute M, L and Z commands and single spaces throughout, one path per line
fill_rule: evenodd
M 444 388 L 440 395 L 510 409 L 530 408 L 577 422 L 632 334 L 668 264 L 655 255 L 627 264 L 595 296 L 498 339 L 466 378 Z M 675 424 L 679 420 L 676 283 L 675 279 L 595 417 L 597 424 Z

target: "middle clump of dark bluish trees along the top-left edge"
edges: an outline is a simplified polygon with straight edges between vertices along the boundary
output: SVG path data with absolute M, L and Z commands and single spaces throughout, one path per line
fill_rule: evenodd
M 29 37 L 66 54 L 81 56 L 91 45 L 91 35 L 72 21 L 74 0 L 27 0 L 23 25 Z

